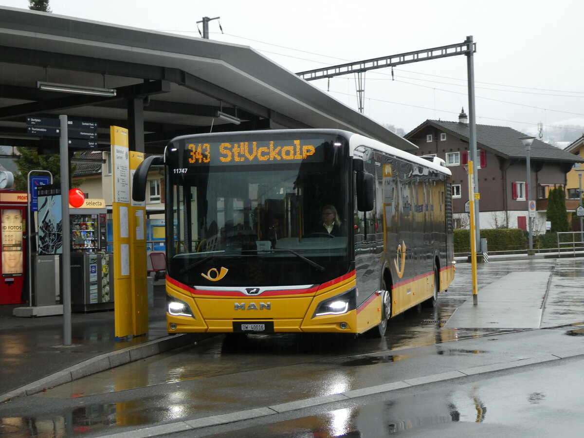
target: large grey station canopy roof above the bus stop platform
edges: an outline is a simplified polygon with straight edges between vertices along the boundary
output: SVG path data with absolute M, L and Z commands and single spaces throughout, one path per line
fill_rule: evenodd
M 111 125 L 147 153 L 176 135 L 312 127 L 415 148 L 251 47 L 0 7 L 0 145 L 50 150 L 27 117 L 59 114 L 97 123 L 103 150 Z

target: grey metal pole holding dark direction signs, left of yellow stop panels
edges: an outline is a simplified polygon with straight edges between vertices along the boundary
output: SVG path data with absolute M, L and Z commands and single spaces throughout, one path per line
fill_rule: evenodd
M 61 137 L 61 241 L 62 266 L 61 284 L 63 297 L 63 345 L 71 345 L 71 234 L 69 228 L 69 147 L 67 135 L 67 116 L 59 116 Z

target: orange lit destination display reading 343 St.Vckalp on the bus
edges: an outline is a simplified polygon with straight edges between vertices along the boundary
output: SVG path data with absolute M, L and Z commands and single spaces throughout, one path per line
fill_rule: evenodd
M 322 140 L 240 141 L 191 143 L 186 154 L 191 165 L 260 164 L 268 162 L 299 162 L 309 159 L 322 162 Z

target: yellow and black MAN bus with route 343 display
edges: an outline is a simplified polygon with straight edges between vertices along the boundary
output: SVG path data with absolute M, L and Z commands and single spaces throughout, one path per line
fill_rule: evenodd
M 383 336 L 454 277 L 451 173 L 342 130 L 185 135 L 165 168 L 169 333 Z

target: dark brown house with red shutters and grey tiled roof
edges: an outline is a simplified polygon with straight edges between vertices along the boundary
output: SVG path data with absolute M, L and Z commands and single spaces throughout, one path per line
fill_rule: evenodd
M 453 176 L 454 226 L 468 228 L 468 116 L 458 121 L 426 120 L 404 136 L 418 146 L 416 155 L 444 159 Z M 530 150 L 531 187 L 527 187 L 526 134 L 506 126 L 477 124 L 479 226 L 481 228 L 527 228 L 527 200 L 536 201 L 535 234 L 545 232 L 547 196 L 554 186 L 566 188 L 566 173 L 584 159 L 551 144 L 533 140 Z M 578 206 L 566 200 L 566 210 Z M 575 214 L 575 213 L 574 213 Z

